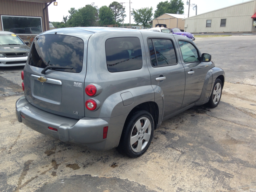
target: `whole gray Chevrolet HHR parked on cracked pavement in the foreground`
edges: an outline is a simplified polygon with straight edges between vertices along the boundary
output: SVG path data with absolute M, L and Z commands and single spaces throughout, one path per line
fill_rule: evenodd
M 19 122 L 94 150 L 135 158 L 154 129 L 191 108 L 216 107 L 225 74 L 189 38 L 122 28 L 38 35 L 22 71 Z

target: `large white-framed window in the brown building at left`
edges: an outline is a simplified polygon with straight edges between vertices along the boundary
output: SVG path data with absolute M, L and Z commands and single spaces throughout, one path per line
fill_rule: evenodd
M 2 15 L 2 29 L 16 34 L 39 34 L 42 32 L 41 17 Z

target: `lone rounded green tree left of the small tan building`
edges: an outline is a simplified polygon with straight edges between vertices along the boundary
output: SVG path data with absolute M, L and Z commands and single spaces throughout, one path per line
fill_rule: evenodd
M 136 22 L 136 24 L 142 24 L 144 28 L 149 26 L 148 22 L 151 20 L 151 17 L 153 16 L 152 10 L 152 7 L 133 10 L 132 16 L 134 17 L 134 21 Z

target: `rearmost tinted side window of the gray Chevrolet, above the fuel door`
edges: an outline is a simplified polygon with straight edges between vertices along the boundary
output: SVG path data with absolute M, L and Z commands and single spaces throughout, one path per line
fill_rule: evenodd
M 137 37 L 118 37 L 106 40 L 106 60 L 109 72 L 142 68 L 142 51 Z

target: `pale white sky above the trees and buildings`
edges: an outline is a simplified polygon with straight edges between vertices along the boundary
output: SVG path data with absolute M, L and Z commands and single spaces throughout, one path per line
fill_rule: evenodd
M 63 16 L 68 16 L 68 10 L 74 7 L 75 9 L 79 9 L 84 7 L 86 4 L 91 4 L 94 2 L 94 6 L 109 6 L 113 1 L 117 1 L 119 3 L 124 2 L 123 6 L 125 6 L 126 10 L 126 18 L 124 18 L 124 23 L 129 23 L 129 0 L 56 0 L 58 2 L 58 6 L 54 6 L 53 3 L 48 7 L 49 12 L 49 21 L 51 22 L 62 22 Z M 131 10 L 140 9 L 145 7 L 152 7 L 153 14 L 156 10 L 156 6 L 159 2 L 165 0 L 131 0 Z M 170 0 L 168 0 L 170 1 Z M 184 3 L 184 15 L 188 15 L 188 5 L 186 4 L 187 0 L 182 0 Z M 206 13 L 209 11 L 213 11 L 216 9 L 232 6 L 235 4 L 239 4 L 242 2 L 246 2 L 249 0 L 190 0 L 190 4 L 197 5 L 197 14 Z M 196 11 L 193 10 L 193 6 L 190 6 L 189 16 L 196 15 Z M 131 16 L 131 23 L 135 24 L 133 17 Z

